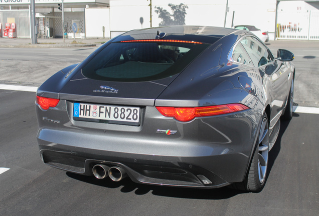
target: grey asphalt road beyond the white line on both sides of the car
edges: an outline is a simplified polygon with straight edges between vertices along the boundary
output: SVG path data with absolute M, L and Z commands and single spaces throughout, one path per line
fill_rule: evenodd
M 58 70 L 84 60 L 99 45 L 73 48 L 0 48 L 0 83 L 39 86 Z M 267 45 L 275 56 L 278 48 L 288 49 L 295 54 L 296 104 L 319 107 L 319 41 L 276 40 Z

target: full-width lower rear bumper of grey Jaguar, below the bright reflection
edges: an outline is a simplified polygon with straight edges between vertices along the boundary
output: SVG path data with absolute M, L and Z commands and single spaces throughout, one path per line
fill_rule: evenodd
M 83 148 L 38 139 L 42 160 L 66 171 L 92 175 L 95 164 L 119 166 L 137 183 L 215 188 L 244 179 L 249 154 L 224 149 L 205 156 L 163 156 Z M 230 152 L 232 151 L 232 152 Z M 248 153 L 248 152 L 247 152 Z M 201 176 L 209 181 L 203 181 Z

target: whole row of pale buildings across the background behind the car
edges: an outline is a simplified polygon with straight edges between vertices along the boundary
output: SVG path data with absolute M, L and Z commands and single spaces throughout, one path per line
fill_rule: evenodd
M 272 40 L 319 40 L 317 0 L 64 0 L 64 23 L 61 2 L 35 0 L 38 37 L 62 37 L 63 28 L 73 37 L 73 23 L 78 27 L 75 37 L 114 37 L 161 25 L 165 18 L 181 23 L 174 15 L 180 12 L 186 25 L 255 25 Z M 30 37 L 30 0 L 0 0 L 0 22 L 3 28 L 16 23 L 16 36 Z

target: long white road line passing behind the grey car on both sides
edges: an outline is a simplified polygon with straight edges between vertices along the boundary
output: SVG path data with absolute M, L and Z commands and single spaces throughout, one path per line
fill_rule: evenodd
M 34 86 L 22 86 L 22 85 L 9 85 L 0 84 L 0 89 L 3 90 L 21 90 L 21 91 L 32 91 L 36 92 L 38 87 Z M 293 112 L 319 114 L 318 107 L 306 107 L 306 106 L 293 106 Z

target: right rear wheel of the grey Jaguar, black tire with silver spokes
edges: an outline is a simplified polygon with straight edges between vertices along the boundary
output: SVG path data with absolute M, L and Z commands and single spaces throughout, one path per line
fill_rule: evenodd
M 266 182 L 267 164 L 269 152 L 269 124 L 267 115 L 262 117 L 260 132 L 256 147 L 249 165 L 248 173 L 243 182 L 233 183 L 232 188 L 259 192 Z

